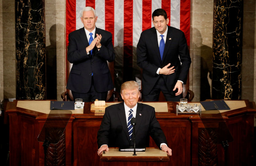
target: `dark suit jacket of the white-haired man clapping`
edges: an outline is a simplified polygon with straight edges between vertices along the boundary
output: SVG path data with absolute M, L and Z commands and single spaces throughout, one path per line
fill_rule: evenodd
M 95 37 L 96 33 L 102 36 L 101 48 L 98 51 L 95 46 L 92 54 L 90 52 L 89 55 L 86 53 L 89 43 L 84 27 L 68 35 L 68 61 L 73 63 L 67 83 L 69 90 L 87 93 L 91 87 L 92 73 L 97 92 L 106 92 L 114 88 L 107 63 L 107 61 L 111 62 L 115 59 L 112 35 L 97 27 Z

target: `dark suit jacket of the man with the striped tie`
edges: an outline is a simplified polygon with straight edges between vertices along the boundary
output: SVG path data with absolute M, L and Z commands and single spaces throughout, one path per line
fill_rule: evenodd
M 149 135 L 159 148 L 161 143 L 167 144 L 164 132 L 156 120 L 155 108 L 149 105 L 138 103 L 134 132 L 136 147 L 149 147 Z M 104 144 L 108 147 L 133 146 L 133 137 L 130 141 L 128 134 L 124 102 L 105 109 L 97 139 L 99 148 Z

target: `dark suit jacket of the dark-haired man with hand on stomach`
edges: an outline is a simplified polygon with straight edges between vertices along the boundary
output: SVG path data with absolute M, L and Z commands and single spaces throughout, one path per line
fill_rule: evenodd
M 182 65 L 180 65 L 180 61 Z M 144 95 L 148 95 L 156 84 L 160 76 L 156 74 L 157 69 L 171 63 L 170 67 L 174 66 L 175 72 L 171 75 L 163 75 L 163 77 L 168 90 L 175 96 L 177 90 L 175 92 L 172 90 L 177 80 L 186 84 L 191 63 L 184 33 L 179 29 L 168 26 L 163 60 L 161 61 L 156 28 L 153 27 L 143 31 L 137 45 L 137 63 L 143 69 L 142 90 Z

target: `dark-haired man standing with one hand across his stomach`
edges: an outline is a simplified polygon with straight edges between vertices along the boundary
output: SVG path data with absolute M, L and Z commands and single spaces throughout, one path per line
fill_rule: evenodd
M 143 31 L 137 45 L 143 101 L 158 101 L 160 91 L 166 101 L 179 101 L 191 63 L 187 41 L 182 31 L 167 25 L 163 9 L 156 9 L 152 19 L 155 27 Z

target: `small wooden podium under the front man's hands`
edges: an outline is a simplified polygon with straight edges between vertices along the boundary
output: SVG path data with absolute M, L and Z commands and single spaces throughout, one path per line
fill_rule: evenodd
M 100 155 L 102 166 L 138 165 L 138 166 L 165 166 L 168 165 L 169 156 L 159 148 L 146 148 L 145 152 L 120 152 L 118 148 L 109 148 Z

